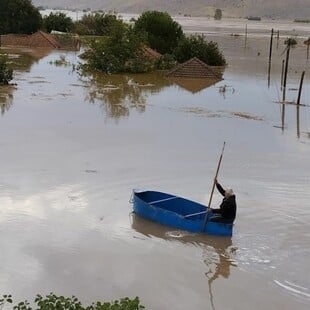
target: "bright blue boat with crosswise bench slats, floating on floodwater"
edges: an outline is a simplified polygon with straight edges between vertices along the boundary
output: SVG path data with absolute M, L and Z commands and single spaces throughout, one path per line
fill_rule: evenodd
M 149 190 L 133 190 L 132 202 L 137 215 L 162 225 L 193 233 L 232 236 L 233 224 L 210 222 L 212 214 L 198 202 Z

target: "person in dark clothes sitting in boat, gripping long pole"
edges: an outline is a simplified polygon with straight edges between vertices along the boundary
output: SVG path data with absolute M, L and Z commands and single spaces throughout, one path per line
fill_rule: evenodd
M 233 223 L 236 217 L 236 196 L 232 189 L 224 189 L 217 180 L 214 180 L 216 188 L 224 196 L 223 201 L 219 209 L 211 209 L 212 217 L 210 218 L 211 222 L 220 222 L 220 223 Z

